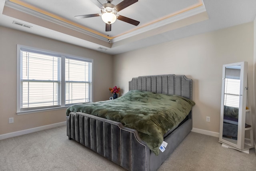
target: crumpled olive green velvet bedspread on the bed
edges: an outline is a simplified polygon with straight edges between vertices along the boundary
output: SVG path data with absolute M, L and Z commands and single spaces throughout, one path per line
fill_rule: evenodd
M 136 129 L 140 138 L 158 155 L 163 135 L 185 119 L 194 105 L 194 101 L 178 95 L 131 90 L 114 100 L 72 105 L 66 115 L 80 111 L 121 122 Z

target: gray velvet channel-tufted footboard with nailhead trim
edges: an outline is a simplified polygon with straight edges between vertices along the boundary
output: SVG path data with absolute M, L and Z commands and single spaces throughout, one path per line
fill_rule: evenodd
M 149 170 L 149 148 L 136 130 L 122 123 L 71 112 L 67 117 L 67 135 L 127 170 Z

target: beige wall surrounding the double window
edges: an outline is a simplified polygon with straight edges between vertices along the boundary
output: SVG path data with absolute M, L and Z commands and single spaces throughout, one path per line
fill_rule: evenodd
M 66 121 L 66 109 L 16 114 L 17 44 L 93 59 L 94 101 L 109 98 L 111 55 L 0 26 L 0 135 Z M 8 123 L 9 117 L 14 117 L 14 123 Z

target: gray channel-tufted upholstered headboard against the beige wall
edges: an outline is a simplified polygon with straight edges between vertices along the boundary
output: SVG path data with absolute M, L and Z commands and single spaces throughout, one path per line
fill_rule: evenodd
M 132 78 L 129 90 L 139 89 L 154 93 L 175 94 L 192 99 L 192 80 L 184 75 L 141 76 Z

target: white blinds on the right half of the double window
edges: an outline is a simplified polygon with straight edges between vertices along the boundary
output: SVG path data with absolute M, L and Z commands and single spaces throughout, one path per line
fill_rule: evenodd
M 91 101 L 91 68 L 91 62 L 66 58 L 66 105 Z

